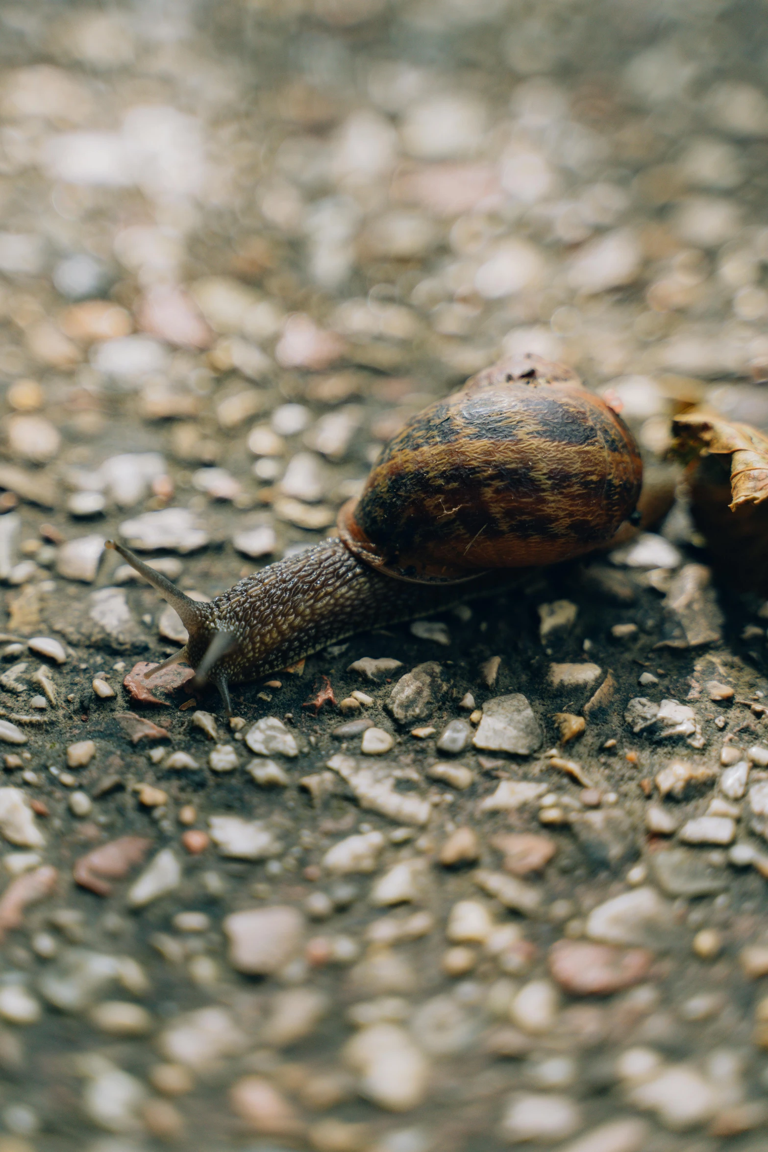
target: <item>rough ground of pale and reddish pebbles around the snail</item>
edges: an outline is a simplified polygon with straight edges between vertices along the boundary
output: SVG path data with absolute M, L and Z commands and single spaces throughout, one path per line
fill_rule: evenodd
M 0 6 L 0 1152 L 766 1147 L 768 605 L 684 492 L 229 721 L 104 543 L 211 598 L 501 354 L 668 486 L 686 404 L 768 430 L 767 61 L 756 2 Z

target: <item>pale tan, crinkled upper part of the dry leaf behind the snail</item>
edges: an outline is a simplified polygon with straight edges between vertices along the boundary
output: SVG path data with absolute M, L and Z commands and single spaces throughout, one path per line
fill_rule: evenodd
M 768 500 L 768 437 L 748 424 L 732 424 L 716 412 L 693 408 L 672 420 L 672 453 L 731 456 L 731 510 Z

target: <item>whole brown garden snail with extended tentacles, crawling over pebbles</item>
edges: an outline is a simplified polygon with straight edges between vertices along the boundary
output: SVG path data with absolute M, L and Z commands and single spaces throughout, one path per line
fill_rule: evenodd
M 511 357 L 413 416 L 387 445 L 339 536 L 246 576 L 210 604 L 120 544 L 189 632 L 160 667 L 197 683 L 256 680 L 357 631 L 501 589 L 509 569 L 606 544 L 636 514 L 642 465 L 617 414 L 568 367 Z M 152 668 L 151 676 L 159 668 Z

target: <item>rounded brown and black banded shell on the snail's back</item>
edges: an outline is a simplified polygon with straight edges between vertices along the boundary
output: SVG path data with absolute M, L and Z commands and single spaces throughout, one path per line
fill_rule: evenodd
M 527 357 L 412 417 L 339 529 L 393 576 L 461 579 L 588 552 L 634 510 L 641 479 L 616 412 L 570 370 Z

